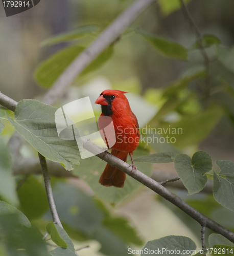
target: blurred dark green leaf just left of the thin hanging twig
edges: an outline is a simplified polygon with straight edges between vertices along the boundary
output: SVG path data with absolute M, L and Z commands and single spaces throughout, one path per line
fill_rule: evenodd
M 44 186 L 33 176 L 17 190 L 20 210 L 30 219 L 37 219 L 49 209 Z

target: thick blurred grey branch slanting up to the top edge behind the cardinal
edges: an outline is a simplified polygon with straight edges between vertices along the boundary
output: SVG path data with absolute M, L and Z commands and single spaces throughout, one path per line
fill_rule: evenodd
M 117 17 L 92 44 L 85 49 L 60 75 L 53 87 L 45 94 L 42 102 L 53 105 L 59 100 L 67 87 L 80 73 L 95 60 L 112 42 L 120 36 L 147 7 L 155 0 L 136 0 L 127 10 Z

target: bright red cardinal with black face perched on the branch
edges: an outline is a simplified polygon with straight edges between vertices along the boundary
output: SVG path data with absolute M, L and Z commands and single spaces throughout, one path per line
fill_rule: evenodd
M 109 116 L 113 121 L 116 142 L 111 147 L 111 154 L 126 162 L 128 154 L 132 160 L 133 151 L 138 146 L 139 126 L 125 93 L 119 90 L 105 90 L 95 103 L 102 106 L 101 116 Z M 99 130 L 104 128 L 102 118 L 99 118 L 98 125 Z M 132 170 L 136 168 L 133 160 L 131 166 Z M 103 186 L 123 187 L 125 180 L 126 174 L 122 170 L 107 164 L 99 183 Z

